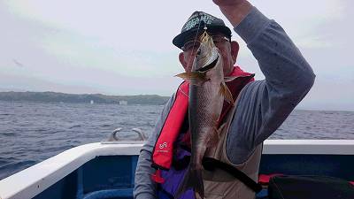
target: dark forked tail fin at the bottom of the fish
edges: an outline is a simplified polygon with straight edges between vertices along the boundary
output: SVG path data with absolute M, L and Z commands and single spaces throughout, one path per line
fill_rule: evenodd
M 174 198 L 180 198 L 183 193 L 185 193 L 189 188 L 193 188 L 196 195 L 199 198 L 204 198 L 204 183 L 202 177 L 201 169 L 192 169 L 189 165 L 186 174 L 177 189 Z M 198 197 L 196 197 L 198 198 Z

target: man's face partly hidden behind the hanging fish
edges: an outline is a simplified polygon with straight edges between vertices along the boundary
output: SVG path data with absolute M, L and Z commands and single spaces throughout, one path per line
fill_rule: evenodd
M 181 65 L 183 65 L 186 72 L 190 72 L 193 65 L 193 60 L 196 57 L 196 51 L 199 48 L 198 38 L 189 39 L 185 42 L 180 54 Z M 233 70 L 235 60 L 238 53 L 237 42 L 230 42 L 229 39 L 224 34 L 212 34 L 212 39 L 215 46 L 219 49 L 220 55 L 223 61 L 224 75 L 227 76 Z M 237 45 L 237 50 L 235 51 L 235 44 Z

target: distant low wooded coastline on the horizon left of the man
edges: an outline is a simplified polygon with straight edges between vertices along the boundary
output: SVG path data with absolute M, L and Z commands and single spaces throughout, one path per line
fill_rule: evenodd
M 0 101 L 40 103 L 117 103 L 163 105 L 169 96 L 105 96 L 102 94 L 65 94 L 57 92 L 0 92 Z

